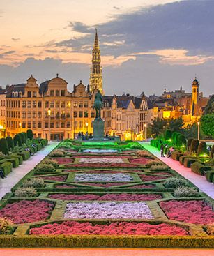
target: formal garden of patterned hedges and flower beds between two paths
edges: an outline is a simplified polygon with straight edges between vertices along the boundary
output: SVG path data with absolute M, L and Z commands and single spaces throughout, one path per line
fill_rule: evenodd
M 213 248 L 214 202 L 137 142 L 61 142 L 0 202 L 1 247 Z

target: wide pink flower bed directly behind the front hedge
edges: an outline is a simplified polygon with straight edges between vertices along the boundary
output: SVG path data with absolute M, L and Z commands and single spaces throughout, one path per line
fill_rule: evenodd
M 43 225 L 42 227 L 31 228 L 29 234 L 47 235 L 47 234 L 97 234 L 97 235 L 176 235 L 185 236 L 188 232 L 176 225 L 165 223 L 151 225 L 149 223 L 110 223 L 96 224 L 78 223 L 76 221 L 65 221 L 63 223 L 53 223 Z

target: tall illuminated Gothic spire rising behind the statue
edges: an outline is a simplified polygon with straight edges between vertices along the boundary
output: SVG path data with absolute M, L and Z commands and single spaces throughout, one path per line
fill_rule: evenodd
M 102 89 L 102 67 L 100 66 L 100 47 L 98 41 L 98 31 L 95 29 L 95 40 L 92 50 L 92 65 L 90 73 L 89 88 L 90 92 L 93 93 L 95 89 L 100 90 L 100 93 L 104 93 Z

